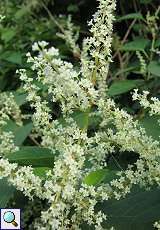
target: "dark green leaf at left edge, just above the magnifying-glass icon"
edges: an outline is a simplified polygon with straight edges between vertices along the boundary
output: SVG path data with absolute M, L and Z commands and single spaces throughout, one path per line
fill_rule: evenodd
M 6 179 L 0 179 L 0 208 L 5 208 L 13 197 L 15 188 Z

